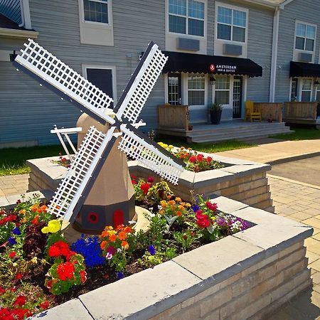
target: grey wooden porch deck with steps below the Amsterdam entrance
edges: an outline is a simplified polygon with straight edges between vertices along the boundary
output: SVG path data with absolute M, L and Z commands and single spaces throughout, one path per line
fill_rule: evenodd
M 284 122 L 245 122 L 237 119 L 220 124 L 193 124 L 191 131 L 175 128 L 159 128 L 157 132 L 164 136 L 181 137 L 187 142 L 218 142 L 225 140 L 269 137 L 272 134 L 289 133 Z

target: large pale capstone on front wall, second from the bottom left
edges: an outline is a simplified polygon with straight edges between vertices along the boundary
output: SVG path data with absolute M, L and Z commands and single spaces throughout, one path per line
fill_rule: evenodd
M 169 261 L 82 294 L 79 299 L 94 319 L 149 319 L 188 299 L 186 289 L 194 287 L 188 294 L 198 293 L 199 282 L 194 274 Z

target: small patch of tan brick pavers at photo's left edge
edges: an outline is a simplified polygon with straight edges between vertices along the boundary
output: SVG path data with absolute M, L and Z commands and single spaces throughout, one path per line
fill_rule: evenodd
M 28 190 L 28 174 L 0 176 L 0 197 L 20 195 Z

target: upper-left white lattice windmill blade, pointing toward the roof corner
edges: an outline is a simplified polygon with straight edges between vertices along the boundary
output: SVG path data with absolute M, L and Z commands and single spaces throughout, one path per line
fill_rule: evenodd
M 78 102 L 86 113 L 97 115 L 98 121 L 104 119 L 114 124 L 114 119 L 111 117 L 114 112 L 109 108 L 113 102 L 111 97 L 32 39 L 28 39 L 28 43 L 24 43 L 24 46 L 21 55 L 15 58 L 17 63 L 38 76 L 41 82 L 45 80 L 70 97 L 70 102 L 73 100 Z

